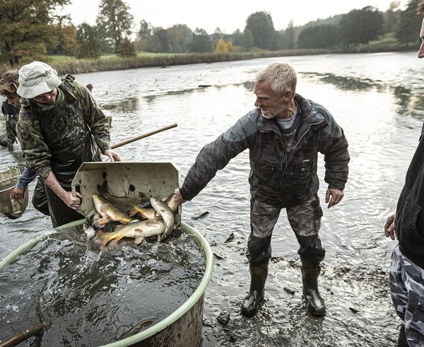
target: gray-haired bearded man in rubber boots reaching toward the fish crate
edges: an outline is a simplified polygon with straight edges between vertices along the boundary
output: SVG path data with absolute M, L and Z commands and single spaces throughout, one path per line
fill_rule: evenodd
M 254 110 L 204 146 L 182 187 L 175 189 L 178 204 L 193 199 L 218 170 L 249 148 L 250 235 L 246 255 L 250 288 L 241 305 L 242 314 L 248 317 L 257 314 L 264 299 L 271 236 L 282 208 L 300 245 L 307 310 L 316 315 L 326 311 L 318 290 L 325 250 L 318 235 L 322 208 L 317 195 L 317 153 L 324 154 L 324 180 L 329 184 L 325 201 L 330 208 L 343 198 L 348 180 L 348 142 L 322 105 L 296 94 L 296 83 L 290 64 L 275 62 L 259 71 Z

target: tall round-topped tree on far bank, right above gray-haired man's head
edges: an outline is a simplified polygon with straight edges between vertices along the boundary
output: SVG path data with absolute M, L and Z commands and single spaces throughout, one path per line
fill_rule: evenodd
M 252 13 L 246 20 L 245 30 L 253 34 L 253 42 L 261 49 L 272 49 L 276 30 L 269 12 Z

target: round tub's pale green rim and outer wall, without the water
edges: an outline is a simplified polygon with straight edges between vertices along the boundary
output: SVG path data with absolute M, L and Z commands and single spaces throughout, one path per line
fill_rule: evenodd
M 86 222 L 86 219 L 76 220 L 75 222 L 61 225 L 56 230 L 73 228 Z M 156 323 L 152 327 L 140 331 L 137 334 L 126 337 L 125 339 L 107 343 L 103 346 L 124 347 L 124 346 L 158 346 L 158 347 L 187 347 L 201 346 L 201 329 L 203 324 L 204 294 L 208 284 L 211 281 L 213 269 L 213 254 L 211 247 L 206 239 L 190 225 L 181 223 L 179 228 L 183 233 L 194 237 L 205 257 L 205 271 L 194 293 L 177 310 L 169 314 L 165 319 Z M 48 235 L 54 232 L 45 233 L 26 242 L 24 245 L 15 249 L 6 258 L 0 261 L 0 270 L 15 261 L 17 257 L 25 254 L 28 249 L 37 245 Z

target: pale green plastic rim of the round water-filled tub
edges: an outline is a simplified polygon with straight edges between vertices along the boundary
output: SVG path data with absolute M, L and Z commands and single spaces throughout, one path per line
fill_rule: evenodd
M 74 222 L 61 225 L 60 227 L 56 228 L 56 230 L 65 229 L 65 228 L 66 229 L 73 228 L 78 225 L 81 225 L 85 221 L 86 219 L 76 220 Z M 172 323 L 176 322 L 177 319 L 181 318 L 184 314 L 186 314 L 194 306 L 194 304 L 196 304 L 196 302 L 198 302 L 199 299 L 204 295 L 206 289 L 208 288 L 209 282 L 211 281 L 211 276 L 212 276 L 213 254 L 212 254 L 211 246 L 208 244 L 204 236 L 201 235 L 199 231 L 192 228 L 190 225 L 187 225 L 186 223 L 182 222 L 181 228 L 182 230 L 184 230 L 184 233 L 194 236 L 196 244 L 199 247 L 201 247 L 201 249 L 204 252 L 205 272 L 204 272 L 203 278 L 201 279 L 201 282 L 199 283 L 199 286 L 196 288 L 196 290 L 194 290 L 194 293 L 190 296 L 190 298 L 188 298 L 187 301 L 184 302 L 177 310 L 172 312 L 169 316 L 165 317 L 163 320 L 156 323 L 152 327 L 146 330 L 140 331 L 139 333 L 134 334 L 132 336 L 126 337 L 125 339 L 115 341 L 112 343 L 107 343 L 106 345 L 102 345 L 100 347 L 131 346 L 134 343 L 143 341 L 144 339 L 147 339 L 148 337 L 151 337 L 157 334 L 158 332 L 162 331 L 166 327 L 170 326 Z M 25 253 L 28 249 L 37 245 L 37 243 L 40 242 L 40 240 L 44 239 L 48 235 L 51 235 L 52 233 L 55 233 L 55 230 L 52 230 L 49 233 L 43 233 L 42 235 L 38 235 L 33 240 L 30 240 L 26 242 L 24 245 L 15 249 L 6 258 L 0 261 L 0 271 L 1 269 L 4 269 L 6 265 L 14 261 L 16 257 L 18 257 L 18 255 Z

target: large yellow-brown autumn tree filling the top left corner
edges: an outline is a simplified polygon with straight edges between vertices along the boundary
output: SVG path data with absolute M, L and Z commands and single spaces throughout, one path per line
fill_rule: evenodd
M 20 61 L 44 59 L 46 45 L 56 44 L 60 15 L 71 0 L 0 1 L 0 57 L 11 66 Z

